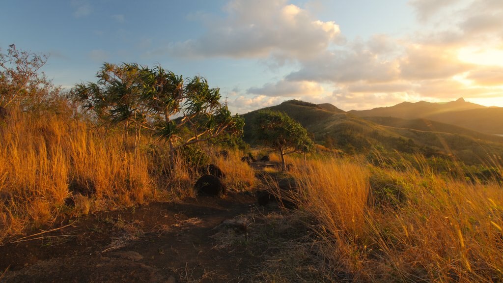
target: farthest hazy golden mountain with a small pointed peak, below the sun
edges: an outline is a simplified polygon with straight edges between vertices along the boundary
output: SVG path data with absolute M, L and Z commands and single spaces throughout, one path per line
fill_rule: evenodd
M 349 113 L 360 117 L 428 119 L 487 134 L 503 134 L 503 108 L 486 107 L 466 102 L 463 98 L 445 103 L 402 102 L 391 107 L 351 110 Z

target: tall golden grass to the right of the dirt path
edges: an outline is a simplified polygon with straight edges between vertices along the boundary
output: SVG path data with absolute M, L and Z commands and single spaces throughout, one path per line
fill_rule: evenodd
M 325 255 L 361 281 L 503 280 L 503 189 L 347 159 L 296 160 Z

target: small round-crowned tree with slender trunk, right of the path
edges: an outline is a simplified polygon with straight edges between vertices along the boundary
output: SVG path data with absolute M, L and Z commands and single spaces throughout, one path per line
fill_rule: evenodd
M 257 113 L 255 134 L 259 142 L 280 153 L 282 170 L 286 170 L 285 155 L 309 153 L 314 142 L 307 130 L 284 112 L 262 110 Z

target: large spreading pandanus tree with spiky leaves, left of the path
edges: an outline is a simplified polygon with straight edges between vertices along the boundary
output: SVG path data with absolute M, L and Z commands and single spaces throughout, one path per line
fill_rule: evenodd
M 101 119 L 164 138 L 172 161 L 181 147 L 242 133 L 243 119 L 231 115 L 219 89 L 202 77 L 184 80 L 161 66 L 104 63 L 97 78 L 77 84 L 74 99 Z

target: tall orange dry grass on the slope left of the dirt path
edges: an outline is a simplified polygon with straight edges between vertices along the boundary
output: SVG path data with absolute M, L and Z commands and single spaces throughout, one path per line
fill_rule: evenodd
M 166 159 L 146 137 L 135 149 L 134 138 L 119 130 L 11 112 L 0 121 L 0 242 L 68 210 L 87 214 L 193 194 L 186 165 L 166 172 Z

